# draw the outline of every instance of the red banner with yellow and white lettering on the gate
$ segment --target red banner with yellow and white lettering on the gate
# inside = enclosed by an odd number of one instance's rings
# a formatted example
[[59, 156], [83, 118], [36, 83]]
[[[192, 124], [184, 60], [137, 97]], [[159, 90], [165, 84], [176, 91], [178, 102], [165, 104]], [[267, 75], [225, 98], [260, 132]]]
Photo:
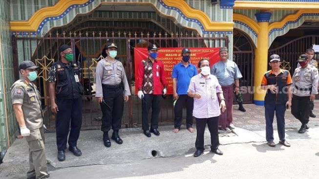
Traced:
[[[160, 48], [158, 50], [158, 57], [157, 60], [163, 62], [165, 75], [167, 80], [167, 93], [173, 94], [173, 82], [171, 78], [171, 73], [173, 71], [173, 67], [181, 62], [181, 51], [183, 47], [179, 48]], [[219, 47], [217, 48], [189, 48], [191, 50], [191, 64], [197, 67], [198, 62], [203, 59], [209, 59], [211, 67], [214, 63], [220, 60], [219, 57]], [[138, 84], [138, 77], [137, 71], [138, 66], [140, 65], [142, 60], [148, 58], [148, 51], [147, 48], [134, 48], [134, 65], [135, 65], [135, 94], [138, 92], [137, 84]], [[143, 79], [142, 79], [143, 80]]]

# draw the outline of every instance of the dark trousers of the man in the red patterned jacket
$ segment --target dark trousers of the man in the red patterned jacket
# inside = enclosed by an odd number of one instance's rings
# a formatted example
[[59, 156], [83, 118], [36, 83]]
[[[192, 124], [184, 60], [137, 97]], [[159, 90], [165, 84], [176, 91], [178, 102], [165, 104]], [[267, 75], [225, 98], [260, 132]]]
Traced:
[[150, 129], [158, 128], [158, 115], [161, 110], [160, 94], [144, 94], [142, 100], [142, 129], [149, 130], [149, 109], [152, 107]]

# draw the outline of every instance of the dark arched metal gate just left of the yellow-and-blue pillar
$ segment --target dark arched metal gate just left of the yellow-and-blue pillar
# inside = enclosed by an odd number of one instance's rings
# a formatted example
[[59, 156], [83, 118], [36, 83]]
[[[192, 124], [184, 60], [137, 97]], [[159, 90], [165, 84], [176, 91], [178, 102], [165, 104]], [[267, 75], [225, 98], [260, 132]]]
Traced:
[[[234, 30], [233, 61], [237, 64], [243, 77], [240, 79], [243, 103], [253, 102], [253, 68], [254, 47], [249, 38], [239, 30]], [[247, 92], [246, 92], [247, 91]], [[235, 101], [235, 98], [234, 98]], [[236, 102], [235, 102], [236, 103]]]

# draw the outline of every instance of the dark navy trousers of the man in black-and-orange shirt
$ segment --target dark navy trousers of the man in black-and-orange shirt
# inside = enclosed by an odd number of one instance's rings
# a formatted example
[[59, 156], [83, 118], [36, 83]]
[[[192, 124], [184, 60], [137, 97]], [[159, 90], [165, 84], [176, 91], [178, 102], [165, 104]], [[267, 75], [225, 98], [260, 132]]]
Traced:
[[265, 118], [266, 118], [266, 140], [268, 142], [274, 141], [274, 114], [276, 112], [277, 131], [279, 139], [285, 140], [285, 112], [286, 104], [265, 104]]

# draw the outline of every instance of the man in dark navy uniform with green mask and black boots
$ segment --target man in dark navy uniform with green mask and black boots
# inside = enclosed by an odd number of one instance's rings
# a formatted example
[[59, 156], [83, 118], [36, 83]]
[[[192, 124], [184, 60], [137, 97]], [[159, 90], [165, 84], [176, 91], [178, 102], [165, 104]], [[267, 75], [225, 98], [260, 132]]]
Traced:
[[49, 74], [49, 92], [51, 111], [55, 115], [55, 127], [58, 147], [58, 160], [64, 161], [67, 135], [69, 150], [75, 156], [82, 152], [77, 148], [77, 141], [82, 125], [82, 91], [81, 71], [73, 62], [73, 50], [68, 45], [59, 47], [61, 60], [53, 63]]

